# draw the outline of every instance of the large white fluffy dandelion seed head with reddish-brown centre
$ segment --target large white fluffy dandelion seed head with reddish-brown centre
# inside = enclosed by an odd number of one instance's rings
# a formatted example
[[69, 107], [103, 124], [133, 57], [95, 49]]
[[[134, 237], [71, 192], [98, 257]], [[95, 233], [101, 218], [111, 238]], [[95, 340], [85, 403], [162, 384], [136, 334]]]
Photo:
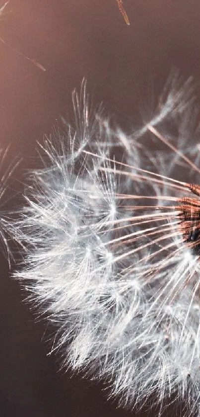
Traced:
[[[200, 416], [199, 125], [192, 80], [171, 79], [130, 135], [73, 92], [75, 128], [41, 146], [14, 238], [15, 276], [55, 326], [64, 367], [126, 407], [183, 401]], [[66, 124], [66, 126], [68, 126]], [[192, 132], [192, 133], [191, 133]]]

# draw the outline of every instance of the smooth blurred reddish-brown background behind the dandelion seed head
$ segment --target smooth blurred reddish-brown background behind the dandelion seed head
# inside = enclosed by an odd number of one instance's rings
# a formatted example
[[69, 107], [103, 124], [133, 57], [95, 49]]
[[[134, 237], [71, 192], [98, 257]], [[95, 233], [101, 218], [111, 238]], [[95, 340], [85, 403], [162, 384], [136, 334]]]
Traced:
[[[11, 144], [10, 159], [24, 156], [21, 169], [37, 164], [36, 141], [49, 134], [55, 119], [72, 114], [71, 90], [83, 77], [94, 102], [103, 100], [129, 126], [172, 67], [185, 77], [194, 75], [199, 94], [200, 1], [124, 0], [124, 5], [130, 27], [116, 0], [10, 0], [12, 11], [0, 21], [7, 42], [0, 42], [0, 145]], [[34, 323], [23, 297], [2, 258], [0, 416], [134, 416], [116, 411], [100, 385], [58, 372], [41, 341], [45, 328]]]

